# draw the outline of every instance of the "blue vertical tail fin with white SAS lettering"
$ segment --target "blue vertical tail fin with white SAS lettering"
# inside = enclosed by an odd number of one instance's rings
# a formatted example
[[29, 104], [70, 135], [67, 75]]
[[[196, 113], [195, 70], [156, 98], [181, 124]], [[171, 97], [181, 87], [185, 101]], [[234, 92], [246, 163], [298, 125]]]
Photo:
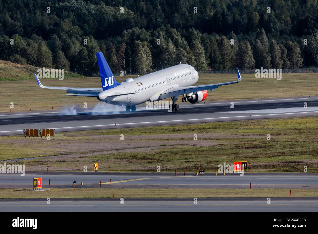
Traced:
[[101, 52], [96, 53], [96, 57], [97, 57], [98, 67], [100, 69], [100, 80], [101, 80], [103, 90], [111, 89], [120, 85], [120, 83], [118, 83], [115, 80], [115, 77], [107, 64], [103, 53]]

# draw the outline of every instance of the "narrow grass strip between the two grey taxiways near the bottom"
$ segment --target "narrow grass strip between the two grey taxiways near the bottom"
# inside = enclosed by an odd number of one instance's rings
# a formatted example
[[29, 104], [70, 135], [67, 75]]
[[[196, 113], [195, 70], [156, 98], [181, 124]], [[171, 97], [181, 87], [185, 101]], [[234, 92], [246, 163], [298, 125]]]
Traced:
[[[182, 188], [0, 188], [0, 198], [169, 198], [169, 197], [289, 197], [289, 189], [182, 189]], [[47, 189], [47, 188], [43, 188]], [[318, 189], [292, 189], [292, 197], [317, 197]]]

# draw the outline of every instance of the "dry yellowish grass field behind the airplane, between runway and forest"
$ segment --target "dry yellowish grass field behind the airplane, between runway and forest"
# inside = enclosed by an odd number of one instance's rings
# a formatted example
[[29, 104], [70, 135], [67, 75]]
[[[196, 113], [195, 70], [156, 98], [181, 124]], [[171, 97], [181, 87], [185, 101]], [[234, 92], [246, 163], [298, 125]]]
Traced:
[[[14, 103], [14, 109], [11, 112], [30, 111], [30, 108], [31, 110], [52, 110], [52, 107], [57, 110], [73, 105], [82, 106], [84, 102], [90, 108], [99, 102], [94, 97], [64, 96], [65, 90], [41, 89], [32, 75], [25, 76], [27, 80], [20, 78], [19, 81], [1, 81], [9, 78], [4, 79], [0, 73], [0, 112], [9, 112], [11, 102]], [[208, 93], [206, 101], [318, 95], [317, 74], [282, 74], [281, 81], [275, 78], [255, 78], [255, 74], [241, 74], [241, 76], [242, 82], [215, 89], [212, 93]], [[116, 80], [121, 82], [126, 78], [135, 77], [119, 76]], [[236, 80], [236, 74], [199, 74], [197, 85]], [[41, 82], [45, 86], [101, 87], [99, 77], [73, 79], [65, 77], [63, 81], [55, 78], [42, 79]], [[181, 99], [178, 102], [180, 103]]]

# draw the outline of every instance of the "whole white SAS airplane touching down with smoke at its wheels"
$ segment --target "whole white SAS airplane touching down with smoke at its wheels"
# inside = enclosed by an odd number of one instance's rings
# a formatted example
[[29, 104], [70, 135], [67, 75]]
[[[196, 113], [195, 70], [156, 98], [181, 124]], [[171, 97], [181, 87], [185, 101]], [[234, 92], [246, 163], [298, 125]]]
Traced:
[[113, 105], [126, 106], [127, 112], [135, 112], [136, 105], [147, 101], [159, 101], [165, 98], [172, 99], [172, 110], [178, 111], [176, 104], [178, 96], [183, 95], [182, 101], [199, 103], [207, 97], [207, 90], [212, 92], [219, 86], [235, 84], [242, 80], [239, 69], [236, 67], [238, 80], [233, 82], [196, 85], [199, 79], [198, 72], [188, 64], [178, 64], [153, 73], [139, 76], [135, 79], [127, 78], [118, 83], [109, 68], [102, 52], [96, 53], [102, 88], [69, 88], [47, 87], [41, 84], [34, 73], [38, 85], [44, 89], [63, 89], [67, 96], [96, 97], [99, 101]]

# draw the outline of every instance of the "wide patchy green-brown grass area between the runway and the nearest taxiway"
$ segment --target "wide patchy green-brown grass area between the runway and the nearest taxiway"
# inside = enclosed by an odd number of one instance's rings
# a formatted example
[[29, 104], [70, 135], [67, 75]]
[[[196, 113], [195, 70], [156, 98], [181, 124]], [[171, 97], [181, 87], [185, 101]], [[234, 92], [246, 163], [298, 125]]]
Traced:
[[[265, 126], [264, 126], [265, 125]], [[27, 171], [206, 172], [247, 160], [251, 172], [318, 172], [318, 117], [185, 124], [57, 133], [57, 138], [0, 138], [0, 161]], [[124, 140], [120, 135], [124, 134]], [[193, 135], [197, 134], [197, 140]], [[267, 140], [267, 134], [271, 140]], [[48, 158], [36, 158], [49, 156]], [[25, 160], [35, 157], [36, 159]]]

